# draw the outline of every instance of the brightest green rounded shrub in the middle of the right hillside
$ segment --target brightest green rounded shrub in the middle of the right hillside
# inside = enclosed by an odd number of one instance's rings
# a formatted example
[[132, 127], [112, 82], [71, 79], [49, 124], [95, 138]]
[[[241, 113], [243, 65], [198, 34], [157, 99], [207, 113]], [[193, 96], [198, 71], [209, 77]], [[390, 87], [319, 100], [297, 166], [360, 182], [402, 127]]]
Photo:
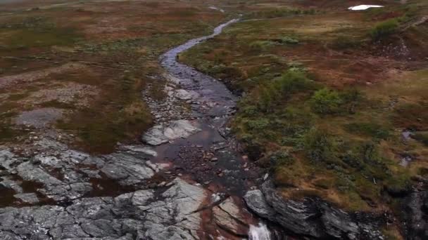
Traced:
[[316, 91], [310, 99], [310, 107], [318, 114], [336, 114], [340, 112], [342, 103], [339, 93], [328, 88]]

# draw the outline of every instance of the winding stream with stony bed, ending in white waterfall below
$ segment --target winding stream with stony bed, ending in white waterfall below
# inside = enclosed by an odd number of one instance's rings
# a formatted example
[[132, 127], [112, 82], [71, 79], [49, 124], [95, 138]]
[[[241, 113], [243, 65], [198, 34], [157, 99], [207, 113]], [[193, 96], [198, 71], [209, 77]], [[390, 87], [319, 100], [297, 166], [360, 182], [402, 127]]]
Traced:
[[[201, 131], [189, 138], [156, 147], [158, 156], [152, 161], [170, 159], [175, 171], [191, 180], [203, 182], [206, 189], [215, 189], [217, 193], [213, 194], [213, 197], [218, 199], [224, 199], [225, 196], [241, 199], [251, 186], [256, 185], [262, 173], [255, 166], [250, 169], [251, 163], [247, 161], [246, 156], [239, 154], [234, 138], [225, 127], [235, 112], [237, 96], [217, 79], [177, 62], [177, 56], [196, 44], [217, 36], [222, 29], [237, 21], [239, 20], [229, 20], [215, 27], [213, 34], [191, 39], [160, 57], [161, 65], [175, 78], [176, 84], [191, 93], [191, 119], [195, 119], [194, 124], [199, 126]], [[213, 154], [211, 159], [215, 159], [215, 162], [209, 161], [207, 164], [201, 156], [195, 155], [198, 151], [210, 152]], [[242, 209], [246, 208], [242, 200], [238, 205]], [[250, 223], [248, 238], [269, 240], [270, 232], [267, 227], [259, 220], [251, 218], [247, 220]]]

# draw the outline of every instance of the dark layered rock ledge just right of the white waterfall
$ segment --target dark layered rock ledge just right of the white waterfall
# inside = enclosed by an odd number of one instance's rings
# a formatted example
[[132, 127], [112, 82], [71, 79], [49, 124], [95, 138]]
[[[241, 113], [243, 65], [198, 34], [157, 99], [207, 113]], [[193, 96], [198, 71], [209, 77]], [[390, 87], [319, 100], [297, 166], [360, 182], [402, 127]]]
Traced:
[[270, 181], [263, 183], [261, 190], [247, 192], [244, 200], [261, 218], [295, 234], [319, 239], [382, 239], [378, 222], [360, 222], [321, 199], [284, 199]]

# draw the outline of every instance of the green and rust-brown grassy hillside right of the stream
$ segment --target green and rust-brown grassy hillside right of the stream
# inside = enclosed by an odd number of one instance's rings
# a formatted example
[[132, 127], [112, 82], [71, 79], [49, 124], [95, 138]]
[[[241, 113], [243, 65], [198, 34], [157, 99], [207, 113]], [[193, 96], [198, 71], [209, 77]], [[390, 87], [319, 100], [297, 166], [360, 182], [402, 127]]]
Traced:
[[428, 178], [427, 4], [328, 2], [242, 4], [180, 59], [243, 94], [232, 129], [284, 196], [382, 211]]

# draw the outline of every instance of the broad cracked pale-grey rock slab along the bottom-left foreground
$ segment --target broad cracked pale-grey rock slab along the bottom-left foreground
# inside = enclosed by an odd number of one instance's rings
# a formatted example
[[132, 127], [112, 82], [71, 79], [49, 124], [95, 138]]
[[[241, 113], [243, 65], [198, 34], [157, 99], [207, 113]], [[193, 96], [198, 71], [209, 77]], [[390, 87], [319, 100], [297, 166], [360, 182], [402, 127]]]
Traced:
[[166, 190], [0, 208], [0, 239], [197, 239], [206, 192], [177, 178]]

